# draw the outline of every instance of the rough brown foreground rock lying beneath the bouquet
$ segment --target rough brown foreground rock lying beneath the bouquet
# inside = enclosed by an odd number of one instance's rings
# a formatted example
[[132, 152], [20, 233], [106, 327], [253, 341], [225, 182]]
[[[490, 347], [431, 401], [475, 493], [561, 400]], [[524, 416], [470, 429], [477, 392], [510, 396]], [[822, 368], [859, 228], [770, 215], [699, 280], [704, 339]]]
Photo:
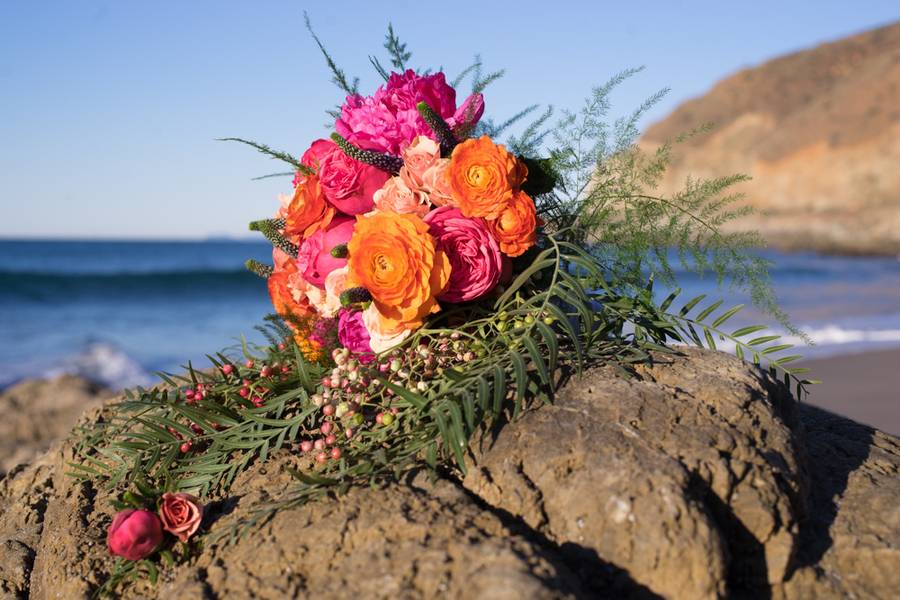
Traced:
[[[96, 419], [99, 409], [86, 419]], [[424, 474], [278, 513], [129, 598], [883, 598], [900, 589], [900, 439], [798, 405], [725, 354], [598, 369]], [[57, 443], [0, 480], [0, 597], [87, 598], [108, 494]], [[256, 465], [204, 526], [290, 485]]]

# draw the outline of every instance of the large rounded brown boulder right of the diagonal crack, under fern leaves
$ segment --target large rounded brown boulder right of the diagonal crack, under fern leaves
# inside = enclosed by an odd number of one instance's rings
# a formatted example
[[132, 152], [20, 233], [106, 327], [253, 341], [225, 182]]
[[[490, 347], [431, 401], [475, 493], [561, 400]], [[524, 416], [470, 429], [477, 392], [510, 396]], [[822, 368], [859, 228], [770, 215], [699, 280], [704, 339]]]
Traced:
[[781, 581], [804, 514], [795, 403], [732, 357], [688, 356], [576, 379], [476, 447], [464, 485], [665, 597]]

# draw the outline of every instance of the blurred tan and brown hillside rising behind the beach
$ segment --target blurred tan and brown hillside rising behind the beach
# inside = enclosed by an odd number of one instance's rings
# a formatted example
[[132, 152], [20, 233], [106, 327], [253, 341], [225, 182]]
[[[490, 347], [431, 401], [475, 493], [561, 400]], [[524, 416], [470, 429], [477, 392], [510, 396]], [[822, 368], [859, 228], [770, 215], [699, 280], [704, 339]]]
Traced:
[[774, 246], [900, 252], [900, 23], [740, 71], [642, 143], [705, 123], [715, 129], [679, 147], [665, 191], [747, 173], [761, 213], [749, 225]]

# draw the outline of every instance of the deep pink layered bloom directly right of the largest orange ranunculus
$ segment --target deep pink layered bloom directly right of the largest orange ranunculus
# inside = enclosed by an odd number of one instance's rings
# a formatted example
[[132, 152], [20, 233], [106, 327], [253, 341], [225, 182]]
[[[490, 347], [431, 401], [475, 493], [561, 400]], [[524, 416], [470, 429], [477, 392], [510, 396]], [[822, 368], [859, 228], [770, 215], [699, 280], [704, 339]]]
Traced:
[[439, 299], [467, 302], [494, 289], [503, 272], [503, 260], [494, 236], [480, 219], [442, 206], [428, 213], [425, 222], [450, 260], [450, 282]]

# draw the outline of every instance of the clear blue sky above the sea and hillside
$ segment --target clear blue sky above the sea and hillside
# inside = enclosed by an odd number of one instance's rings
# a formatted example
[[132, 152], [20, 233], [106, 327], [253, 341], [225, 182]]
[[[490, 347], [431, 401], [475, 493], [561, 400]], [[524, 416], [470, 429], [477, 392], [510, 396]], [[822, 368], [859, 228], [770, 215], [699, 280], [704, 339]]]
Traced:
[[367, 92], [388, 21], [416, 66], [454, 75], [481, 53], [507, 69], [486, 96], [495, 118], [577, 106], [639, 65], [614, 99], [625, 112], [669, 86], [660, 118], [741, 67], [900, 19], [897, 0], [0, 0], [0, 237], [246, 235], [290, 182], [250, 181], [282, 169], [214, 139], [300, 153], [341, 100], [304, 9]]

